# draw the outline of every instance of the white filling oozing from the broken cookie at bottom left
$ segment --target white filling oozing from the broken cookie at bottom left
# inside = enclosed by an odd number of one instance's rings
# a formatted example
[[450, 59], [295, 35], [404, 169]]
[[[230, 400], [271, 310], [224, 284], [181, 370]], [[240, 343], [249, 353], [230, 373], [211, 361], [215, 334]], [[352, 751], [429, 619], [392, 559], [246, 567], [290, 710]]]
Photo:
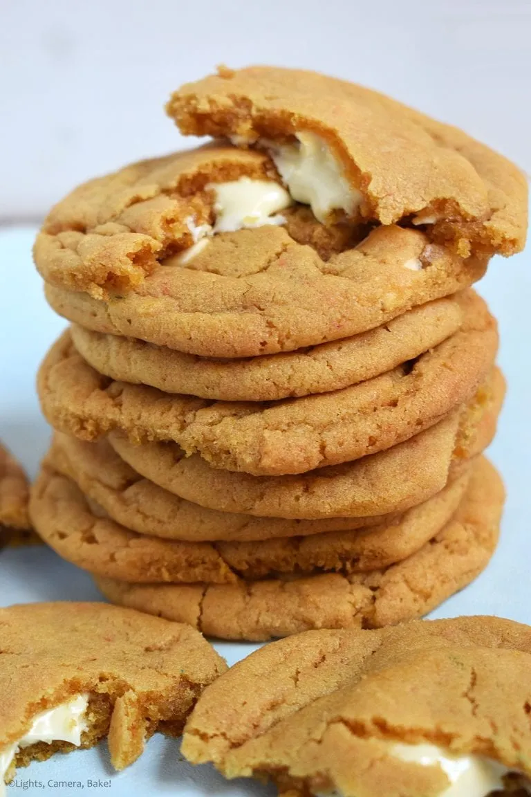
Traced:
[[88, 728], [85, 720], [87, 706], [88, 695], [78, 695], [71, 701], [56, 706], [55, 709], [37, 714], [29, 731], [18, 742], [0, 751], [0, 797], [6, 795], [4, 778], [19, 749], [37, 742], [52, 744], [55, 741], [70, 742], [77, 747], [80, 746], [81, 734]]

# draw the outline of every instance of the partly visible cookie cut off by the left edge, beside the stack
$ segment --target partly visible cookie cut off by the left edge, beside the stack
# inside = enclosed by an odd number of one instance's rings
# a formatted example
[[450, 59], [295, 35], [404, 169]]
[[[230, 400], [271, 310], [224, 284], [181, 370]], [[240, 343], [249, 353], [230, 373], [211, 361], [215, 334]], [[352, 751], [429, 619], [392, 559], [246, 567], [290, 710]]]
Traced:
[[29, 483], [24, 470], [0, 445], [0, 548], [40, 541], [31, 530], [28, 502]]

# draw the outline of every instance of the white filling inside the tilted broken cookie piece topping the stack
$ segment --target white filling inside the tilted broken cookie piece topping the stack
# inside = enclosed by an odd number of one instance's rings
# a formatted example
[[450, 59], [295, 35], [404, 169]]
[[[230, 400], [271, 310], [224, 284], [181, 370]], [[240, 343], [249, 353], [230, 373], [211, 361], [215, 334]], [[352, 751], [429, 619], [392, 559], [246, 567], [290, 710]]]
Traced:
[[310, 205], [315, 218], [326, 222], [334, 210], [352, 216], [361, 204], [361, 193], [349, 185], [345, 171], [320, 135], [296, 133], [299, 143], [262, 142], [269, 151], [292, 198]]

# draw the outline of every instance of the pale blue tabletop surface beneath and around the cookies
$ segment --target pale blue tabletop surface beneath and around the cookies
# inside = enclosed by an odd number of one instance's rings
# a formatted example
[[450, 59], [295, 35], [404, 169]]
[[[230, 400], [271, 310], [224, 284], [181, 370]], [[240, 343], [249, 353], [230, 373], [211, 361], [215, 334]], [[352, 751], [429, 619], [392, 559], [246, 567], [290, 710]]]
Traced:
[[[45, 453], [49, 429], [39, 412], [34, 390], [38, 363], [64, 327], [42, 296], [41, 281], [33, 269], [30, 247], [34, 230], [0, 231], [0, 439], [4, 440], [33, 476]], [[529, 308], [531, 258], [498, 258], [479, 286], [498, 316], [502, 332], [500, 363], [510, 389], [490, 456], [502, 470], [508, 500], [502, 540], [488, 570], [459, 595], [435, 611], [433, 617], [457, 614], [499, 614], [531, 623], [531, 424], [529, 424]], [[0, 604], [39, 600], [99, 600], [92, 581], [82, 571], [64, 563], [44, 548], [0, 552]], [[217, 643], [217, 650], [232, 664], [255, 646]], [[260, 685], [258, 685], [260, 688]], [[110, 779], [110, 787], [89, 790], [109, 797], [140, 795], [271, 795], [256, 783], [225, 783], [209, 767], [192, 768], [181, 760], [178, 744], [155, 737], [133, 767], [119, 775], [108, 764], [105, 748], [55, 756], [45, 764], [19, 770], [18, 783], [28, 779], [44, 784], [20, 793], [72, 797], [74, 787], [46, 787], [48, 779]], [[15, 787], [8, 794], [18, 793]]]

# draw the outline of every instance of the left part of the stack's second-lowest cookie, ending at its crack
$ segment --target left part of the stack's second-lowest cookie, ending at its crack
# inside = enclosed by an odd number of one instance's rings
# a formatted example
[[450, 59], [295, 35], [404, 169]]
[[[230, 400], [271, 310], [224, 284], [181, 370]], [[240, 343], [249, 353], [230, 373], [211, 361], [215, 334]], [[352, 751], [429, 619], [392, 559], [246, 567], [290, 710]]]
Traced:
[[33, 525], [59, 556], [84, 570], [131, 582], [232, 583], [236, 575], [213, 545], [158, 540], [131, 532], [90, 505], [67, 477], [44, 463], [29, 504]]

